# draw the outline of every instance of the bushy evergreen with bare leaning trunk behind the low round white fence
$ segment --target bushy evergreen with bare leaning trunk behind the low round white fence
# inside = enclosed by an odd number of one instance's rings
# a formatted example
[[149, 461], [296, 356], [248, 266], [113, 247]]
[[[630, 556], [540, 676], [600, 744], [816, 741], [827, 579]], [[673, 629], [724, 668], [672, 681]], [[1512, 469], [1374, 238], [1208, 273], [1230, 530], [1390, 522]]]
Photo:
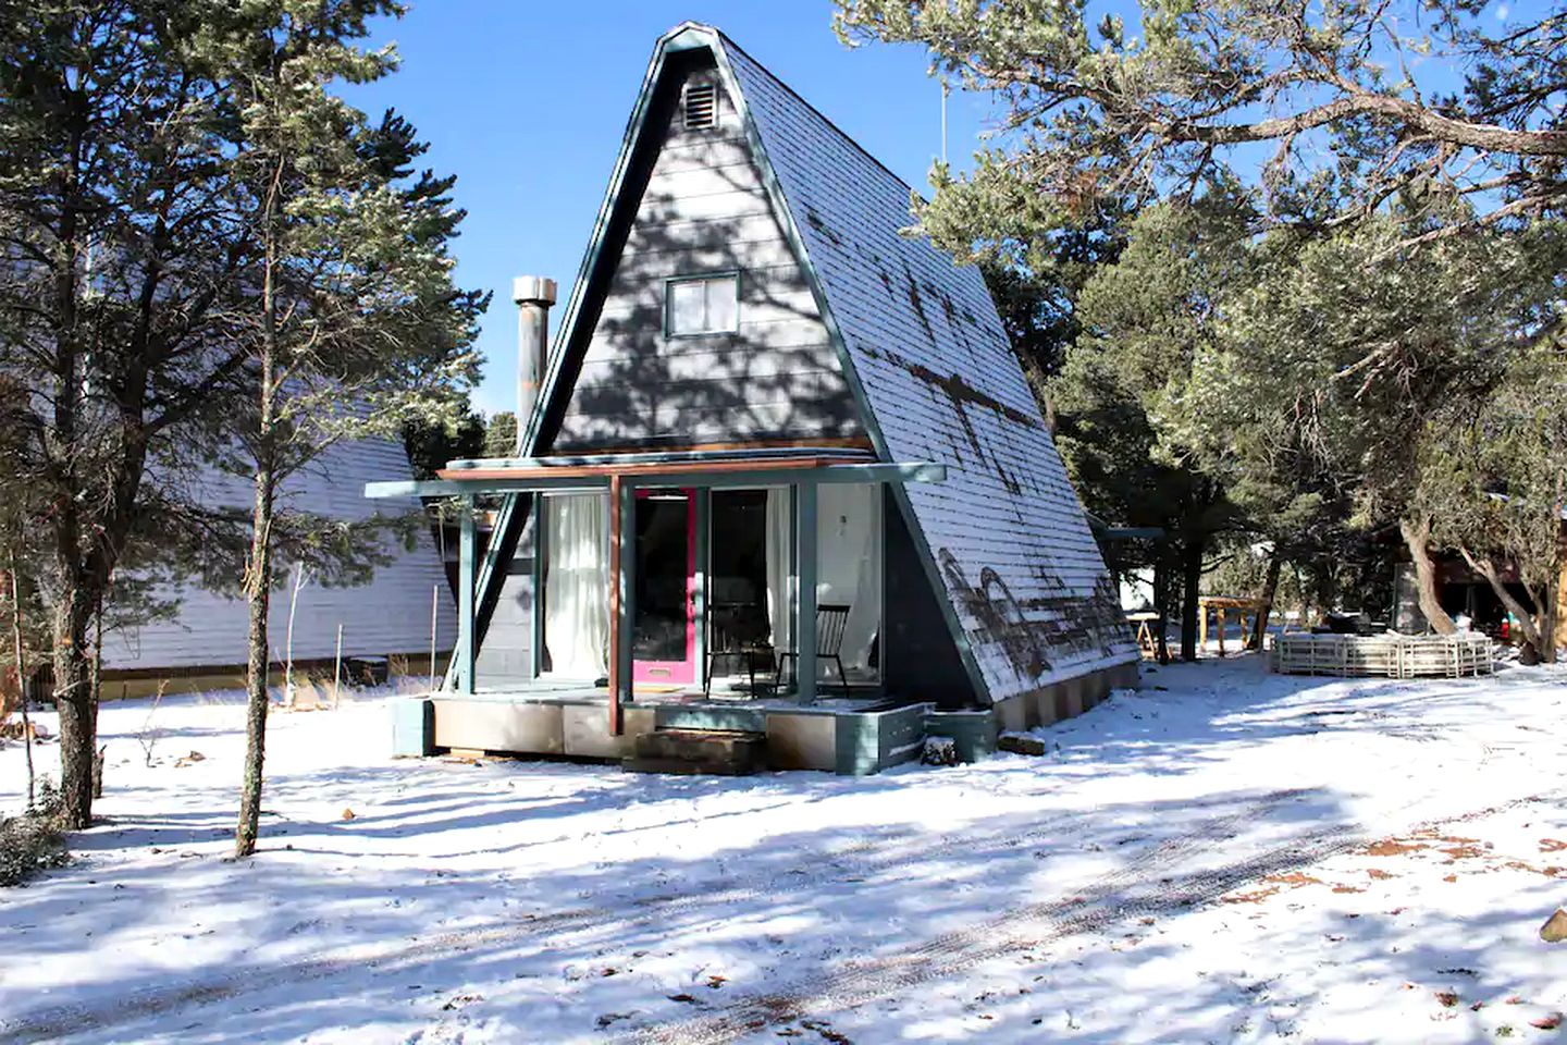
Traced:
[[1269, 233], [1180, 414], [1233, 453], [1250, 506], [1395, 526], [1421, 611], [1451, 631], [1432, 553], [1453, 547], [1457, 501], [1421, 492], [1431, 440], [1484, 410], [1518, 353], [1551, 337], [1562, 265], [1545, 226], [1420, 243], [1431, 227], [1393, 210], [1304, 241]]

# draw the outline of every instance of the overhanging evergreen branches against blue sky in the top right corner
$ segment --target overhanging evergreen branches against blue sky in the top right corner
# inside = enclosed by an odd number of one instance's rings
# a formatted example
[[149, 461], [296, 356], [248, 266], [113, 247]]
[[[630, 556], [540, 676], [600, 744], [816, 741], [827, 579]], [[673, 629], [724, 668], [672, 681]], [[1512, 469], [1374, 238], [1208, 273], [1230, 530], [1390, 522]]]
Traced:
[[837, 5], [846, 41], [920, 44], [932, 72], [993, 92], [990, 160], [1045, 197], [1191, 197], [1255, 165], [1283, 208], [1304, 191], [1368, 215], [1417, 186], [1442, 232], [1567, 199], [1561, 3], [1139, 0], [1136, 27], [1087, 0]]

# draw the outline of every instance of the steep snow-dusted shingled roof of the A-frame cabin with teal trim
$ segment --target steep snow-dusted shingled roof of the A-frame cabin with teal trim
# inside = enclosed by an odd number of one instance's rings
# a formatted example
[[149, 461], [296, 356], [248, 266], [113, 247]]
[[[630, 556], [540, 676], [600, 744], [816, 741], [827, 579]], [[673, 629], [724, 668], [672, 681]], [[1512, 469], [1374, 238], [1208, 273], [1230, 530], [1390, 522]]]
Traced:
[[[979, 271], [910, 224], [912, 190], [718, 30], [685, 24], [655, 49], [566, 323], [530, 421], [530, 451], [569, 389], [636, 201], [632, 158], [666, 60], [705, 49], [747, 127], [879, 456], [948, 465], [945, 484], [898, 489], [976, 691], [992, 702], [1136, 660], [1119, 598]], [[613, 249], [613, 248], [611, 248]]]

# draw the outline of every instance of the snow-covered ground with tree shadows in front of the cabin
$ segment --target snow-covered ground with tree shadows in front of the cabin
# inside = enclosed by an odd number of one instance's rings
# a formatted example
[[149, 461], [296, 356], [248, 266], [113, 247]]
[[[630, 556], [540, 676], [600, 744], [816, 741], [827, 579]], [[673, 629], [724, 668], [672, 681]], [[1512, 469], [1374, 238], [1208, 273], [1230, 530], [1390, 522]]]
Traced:
[[1564, 710], [1246, 656], [1044, 758], [730, 780], [395, 761], [362, 699], [273, 718], [233, 863], [238, 697], [166, 700], [150, 768], [114, 703], [105, 823], [0, 891], [0, 1040], [1559, 1040]]

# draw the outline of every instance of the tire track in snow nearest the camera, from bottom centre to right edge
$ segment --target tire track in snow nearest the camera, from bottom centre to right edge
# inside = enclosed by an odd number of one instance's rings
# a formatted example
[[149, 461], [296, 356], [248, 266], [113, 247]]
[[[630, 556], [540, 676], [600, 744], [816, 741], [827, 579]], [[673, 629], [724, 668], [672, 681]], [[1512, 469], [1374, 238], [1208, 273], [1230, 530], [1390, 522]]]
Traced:
[[[1287, 794], [1287, 793], [1285, 793]], [[1370, 844], [1373, 835], [1352, 826], [1335, 826], [1305, 833], [1221, 868], [1197, 870], [1182, 877], [1150, 874], [1169, 868], [1194, 848], [1233, 838], [1236, 829], [1265, 813], [1280, 799], [1261, 801], [1230, 816], [1208, 821], [1202, 829], [1152, 846], [1124, 870], [1098, 879], [1094, 888], [1064, 899], [1026, 904], [975, 926], [945, 932], [923, 943], [893, 951], [885, 957], [851, 960], [812, 973], [763, 995], [738, 998], [721, 1009], [661, 1025], [633, 1029], [614, 1039], [625, 1045], [724, 1045], [798, 1018], [823, 1018], [961, 974], [975, 965], [1056, 943], [1062, 938], [1097, 932], [1130, 917], [1172, 913], [1211, 902], [1219, 896], [1266, 874], [1318, 863], [1330, 855]], [[1528, 802], [1558, 801], [1561, 796], [1526, 796], [1457, 816], [1421, 821], [1396, 835], [1479, 819]], [[1381, 833], [1377, 835], [1381, 837]]]

